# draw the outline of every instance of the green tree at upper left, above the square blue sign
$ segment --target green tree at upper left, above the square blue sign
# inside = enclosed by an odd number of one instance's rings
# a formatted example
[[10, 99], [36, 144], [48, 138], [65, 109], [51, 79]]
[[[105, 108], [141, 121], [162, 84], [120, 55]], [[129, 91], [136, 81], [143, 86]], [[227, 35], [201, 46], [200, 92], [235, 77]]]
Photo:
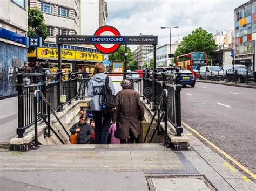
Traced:
[[[49, 36], [47, 27], [44, 24], [43, 13], [37, 9], [28, 9], [28, 37], [42, 37], [43, 42]], [[29, 48], [28, 52], [32, 52], [35, 48]]]

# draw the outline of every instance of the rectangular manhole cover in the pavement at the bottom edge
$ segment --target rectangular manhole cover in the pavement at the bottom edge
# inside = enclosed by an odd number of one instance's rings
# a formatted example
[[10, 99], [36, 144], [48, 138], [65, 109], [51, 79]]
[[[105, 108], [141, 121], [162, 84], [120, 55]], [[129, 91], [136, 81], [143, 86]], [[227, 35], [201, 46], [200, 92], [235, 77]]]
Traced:
[[157, 190], [217, 190], [204, 176], [147, 176], [149, 188]]

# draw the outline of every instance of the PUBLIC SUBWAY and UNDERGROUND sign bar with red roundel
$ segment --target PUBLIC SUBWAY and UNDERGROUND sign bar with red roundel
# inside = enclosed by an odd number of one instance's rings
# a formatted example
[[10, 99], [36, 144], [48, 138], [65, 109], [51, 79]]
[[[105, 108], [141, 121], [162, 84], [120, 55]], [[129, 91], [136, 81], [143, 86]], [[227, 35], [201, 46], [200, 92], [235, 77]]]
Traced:
[[57, 35], [57, 44], [94, 44], [99, 52], [110, 54], [117, 51], [122, 44], [157, 45], [157, 36], [121, 36], [113, 26], [102, 26], [93, 36]]

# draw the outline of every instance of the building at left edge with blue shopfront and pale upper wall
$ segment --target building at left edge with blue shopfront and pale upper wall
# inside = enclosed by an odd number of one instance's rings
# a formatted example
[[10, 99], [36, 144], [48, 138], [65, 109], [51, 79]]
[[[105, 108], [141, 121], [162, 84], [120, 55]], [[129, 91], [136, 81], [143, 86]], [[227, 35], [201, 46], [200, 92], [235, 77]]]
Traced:
[[0, 99], [17, 94], [16, 71], [26, 60], [28, 1], [0, 3]]

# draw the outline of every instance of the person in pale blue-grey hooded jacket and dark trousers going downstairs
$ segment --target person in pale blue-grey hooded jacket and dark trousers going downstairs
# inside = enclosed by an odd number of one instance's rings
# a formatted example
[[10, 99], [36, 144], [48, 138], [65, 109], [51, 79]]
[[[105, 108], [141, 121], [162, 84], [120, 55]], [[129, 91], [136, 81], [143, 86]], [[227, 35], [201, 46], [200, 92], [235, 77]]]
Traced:
[[91, 98], [91, 109], [93, 119], [95, 120], [95, 143], [96, 144], [106, 144], [107, 136], [109, 134], [108, 130], [110, 128], [110, 122], [112, 119], [112, 111], [105, 112], [108, 105], [103, 103], [103, 93], [102, 90], [107, 87], [110, 88], [111, 94], [114, 95], [115, 89], [113, 82], [110, 77], [107, 77], [105, 72], [105, 66], [103, 63], [96, 63], [95, 69], [91, 76], [88, 84], [88, 95]]

